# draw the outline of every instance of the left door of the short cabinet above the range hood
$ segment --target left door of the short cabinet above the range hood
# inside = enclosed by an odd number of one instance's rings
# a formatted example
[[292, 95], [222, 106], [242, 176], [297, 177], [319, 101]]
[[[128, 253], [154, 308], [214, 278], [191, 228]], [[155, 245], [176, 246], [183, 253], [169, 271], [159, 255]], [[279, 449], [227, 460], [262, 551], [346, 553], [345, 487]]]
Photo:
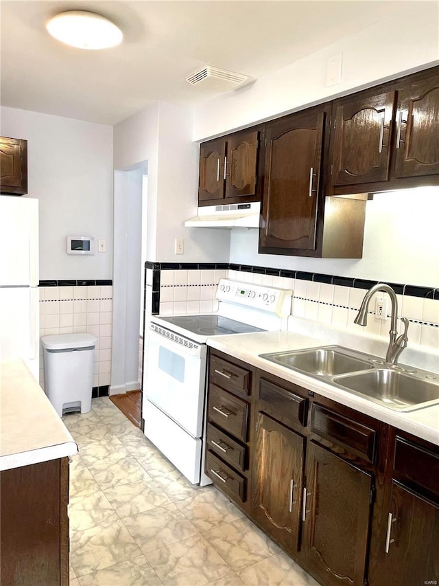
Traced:
[[225, 156], [226, 142], [222, 139], [209, 141], [200, 146], [200, 201], [224, 198]]

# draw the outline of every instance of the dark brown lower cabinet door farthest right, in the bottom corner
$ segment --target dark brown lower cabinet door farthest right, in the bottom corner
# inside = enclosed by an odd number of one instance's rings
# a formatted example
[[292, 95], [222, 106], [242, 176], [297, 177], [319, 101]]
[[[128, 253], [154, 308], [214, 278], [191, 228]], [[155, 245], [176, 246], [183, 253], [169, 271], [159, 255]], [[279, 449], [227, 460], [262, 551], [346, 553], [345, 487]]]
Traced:
[[392, 482], [382, 565], [371, 586], [439, 584], [439, 507]]

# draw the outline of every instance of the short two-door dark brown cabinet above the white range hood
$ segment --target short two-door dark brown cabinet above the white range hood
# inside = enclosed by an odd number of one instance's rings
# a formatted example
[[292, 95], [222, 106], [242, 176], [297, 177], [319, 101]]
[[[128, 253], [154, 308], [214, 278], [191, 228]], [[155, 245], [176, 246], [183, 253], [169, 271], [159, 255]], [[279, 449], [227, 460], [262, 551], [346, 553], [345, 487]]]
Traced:
[[257, 201], [259, 131], [246, 131], [200, 145], [198, 203]]

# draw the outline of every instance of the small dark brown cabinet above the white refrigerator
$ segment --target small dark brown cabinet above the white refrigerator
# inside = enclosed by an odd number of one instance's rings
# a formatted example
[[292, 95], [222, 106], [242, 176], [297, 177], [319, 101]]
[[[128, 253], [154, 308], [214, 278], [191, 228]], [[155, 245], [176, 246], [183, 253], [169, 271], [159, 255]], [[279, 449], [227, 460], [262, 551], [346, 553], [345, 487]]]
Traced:
[[0, 137], [0, 193], [27, 193], [27, 140]]

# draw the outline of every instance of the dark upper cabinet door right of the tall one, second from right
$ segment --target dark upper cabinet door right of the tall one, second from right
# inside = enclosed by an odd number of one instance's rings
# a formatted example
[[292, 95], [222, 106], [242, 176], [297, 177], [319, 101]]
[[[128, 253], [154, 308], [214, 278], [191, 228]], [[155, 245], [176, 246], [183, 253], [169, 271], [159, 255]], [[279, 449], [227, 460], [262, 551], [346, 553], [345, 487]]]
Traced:
[[388, 91], [336, 102], [332, 185], [387, 181], [395, 95]]

